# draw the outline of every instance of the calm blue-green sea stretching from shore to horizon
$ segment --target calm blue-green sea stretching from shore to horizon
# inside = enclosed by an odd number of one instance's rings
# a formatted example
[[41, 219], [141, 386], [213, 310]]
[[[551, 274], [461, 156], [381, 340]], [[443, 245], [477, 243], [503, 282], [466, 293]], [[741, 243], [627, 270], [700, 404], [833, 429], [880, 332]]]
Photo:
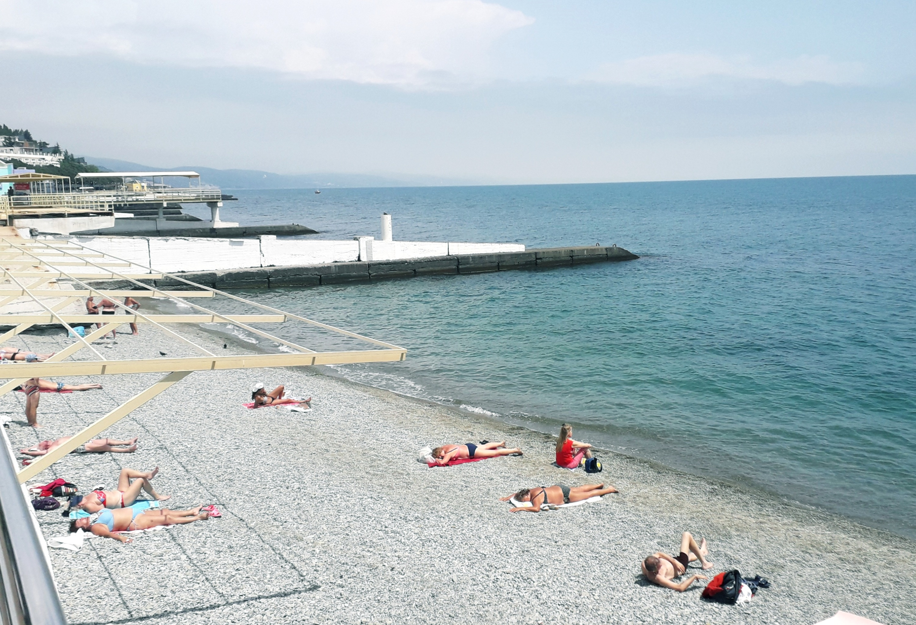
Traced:
[[403, 241], [637, 253], [249, 295], [409, 350], [355, 381], [916, 539], [916, 176], [233, 193], [224, 220], [311, 238], [384, 211]]

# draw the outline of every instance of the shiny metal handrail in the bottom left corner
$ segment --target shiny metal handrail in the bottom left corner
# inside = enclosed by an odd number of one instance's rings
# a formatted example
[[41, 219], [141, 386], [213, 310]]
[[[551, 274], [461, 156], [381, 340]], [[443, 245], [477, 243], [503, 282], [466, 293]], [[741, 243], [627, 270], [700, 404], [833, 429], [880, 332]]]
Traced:
[[66, 625], [6, 433], [0, 439], [0, 622]]

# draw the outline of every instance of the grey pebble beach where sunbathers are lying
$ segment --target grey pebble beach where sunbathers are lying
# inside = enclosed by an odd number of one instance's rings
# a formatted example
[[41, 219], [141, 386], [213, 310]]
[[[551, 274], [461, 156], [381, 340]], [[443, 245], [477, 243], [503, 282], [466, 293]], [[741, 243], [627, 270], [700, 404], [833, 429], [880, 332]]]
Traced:
[[[202, 329], [191, 334], [222, 347]], [[69, 340], [58, 329], [9, 344], [50, 351]], [[113, 358], [192, 353], [146, 327], [96, 345]], [[43, 394], [38, 430], [26, 426], [23, 394], [7, 393], [6, 435], [17, 449], [73, 434], [158, 377], [61, 379], [104, 389]], [[311, 412], [246, 409], [258, 381], [311, 396]], [[70, 455], [30, 483], [114, 489], [120, 469], [158, 466], [154, 483], [170, 508], [212, 503], [223, 516], [135, 534], [132, 544], [51, 549], [71, 623], [788, 625], [837, 610], [916, 622], [911, 540], [610, 452], [596, 454], [596, 475], [557, 469], [552, 436], [311, 368], [195, 372], [103, 436], [138, 436], [139, 448]], [[417, 461], [421, 447], [484, 439], [525, 454], [435, 469]], [[685, 443], [672, 453], [691, 451]], [[537, 514], [498, 501], [524, 487], [596, 482], [620, 492]], [[46, 538], [67, 533], [60, 511], [37, 515]], [[737, 568], [772, 586], [725, 606], [701, 600], [703, 584], [683, 593], [649, 585], [641, 559], [677, 552], [684, 530], [708, 540], [712, 574]]]

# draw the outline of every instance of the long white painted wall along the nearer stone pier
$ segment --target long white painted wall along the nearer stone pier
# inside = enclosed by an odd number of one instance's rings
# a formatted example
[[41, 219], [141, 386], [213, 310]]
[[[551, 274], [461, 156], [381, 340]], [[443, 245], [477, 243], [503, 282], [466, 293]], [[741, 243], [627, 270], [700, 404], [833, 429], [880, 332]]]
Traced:
[[467, 253], [524, 252], [518, 243], [453, 243], [278, 239], [207, 239], [198, 237], [73, 237], [86, 247], [165, 272], [219, 271], [290, 264], [390, 261]]

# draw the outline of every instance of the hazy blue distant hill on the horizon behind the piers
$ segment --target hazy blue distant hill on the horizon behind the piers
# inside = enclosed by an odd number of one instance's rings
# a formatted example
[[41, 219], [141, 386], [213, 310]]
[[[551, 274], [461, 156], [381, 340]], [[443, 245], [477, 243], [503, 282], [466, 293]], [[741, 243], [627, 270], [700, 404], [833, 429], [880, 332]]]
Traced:
[[433, 176], [387, 177], [369, 174], [274, 174], [256, 169], [213, 169], [180, 165], [176, 167], [151, 167], [131, 163], [130, 161], [102, 156], [85, 156], [87, 163], [92, 163], [109, 171], [196, 171], [201, 175], [204, 184], [211, 184], [220, 189], [324, 189], [327, 187], [450, 187], [474, 183], [470, 180], [454, 178], [436, 178]]

